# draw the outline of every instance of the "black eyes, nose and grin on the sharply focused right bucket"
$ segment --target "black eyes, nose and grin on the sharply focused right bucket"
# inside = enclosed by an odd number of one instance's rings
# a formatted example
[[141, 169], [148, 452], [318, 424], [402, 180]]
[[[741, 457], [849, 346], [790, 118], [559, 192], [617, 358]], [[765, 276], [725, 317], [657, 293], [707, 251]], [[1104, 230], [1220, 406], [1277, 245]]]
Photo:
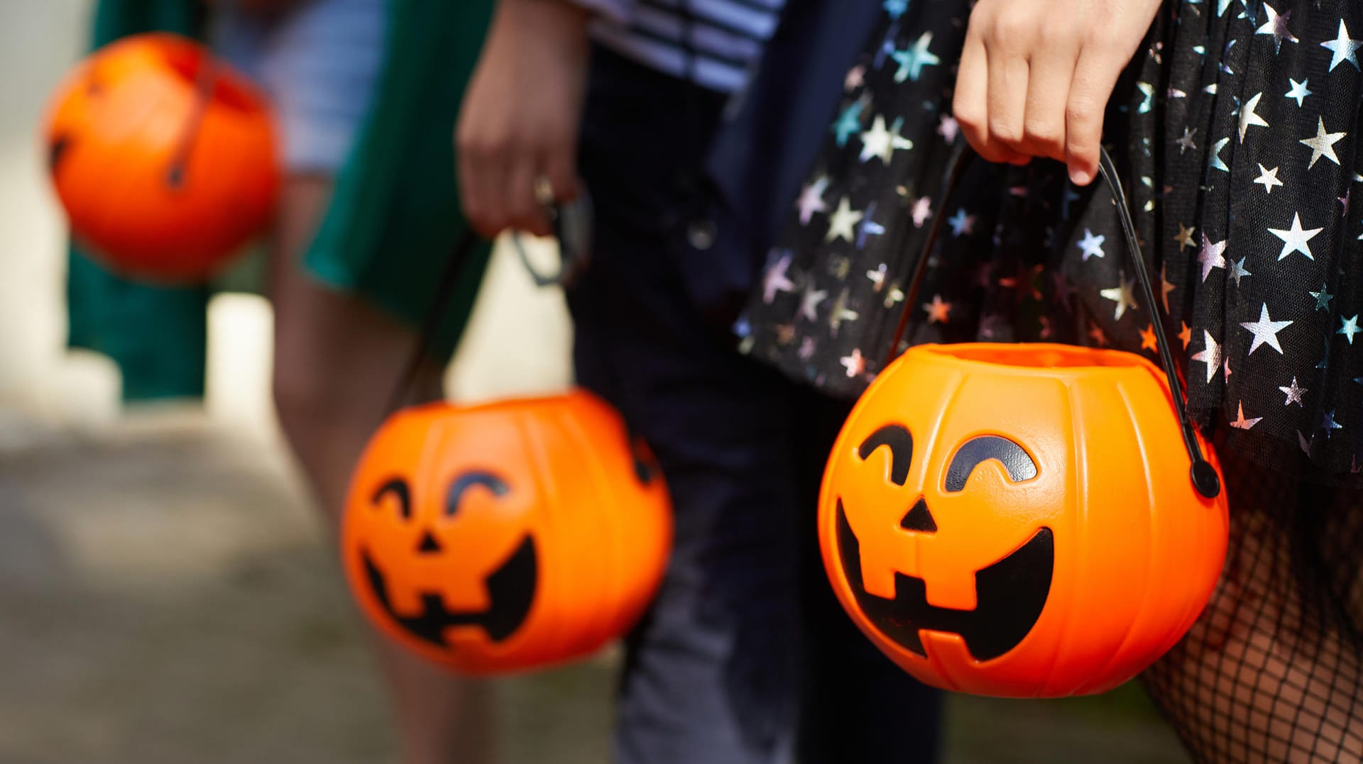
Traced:
[[[913, 434], [902, 425], [886, 425], [861, 443], [857, 456], [866, 462], [880, 449], [887, 452], [889, 459], [886, 478], [895, 486], [904, 486], [913, 459]], [[942, 490], [964, 492], [975, 468], [988, 460], [996, 462], [1011, 482], [1037, 477], [1036, 462], [1017, 443], [999, 436], [977, 436], [955, 451], [942, 478]], [[900, 571], [893, 571], [893, 596], [867, 591], [861, 571], [874, 561], [863, 560], [861, 545], [841, 498], [837, 522], [842, 567], [857, 605], [876, 628], [910, 652], [927, 656], [919, 631], [928, 629], [960, 635], [975, 659], [988, 660], [1017, 647], [1041, 616], [1055, 565], [1055, 541], [1050, 527], [1039, 527], [1017, 549], [976, 571], [976, 605], [966, 610], [931, 605], [923, 579]], [[913, 535], [938, 532], [924, 496], [916, 497], [900, 527]]]

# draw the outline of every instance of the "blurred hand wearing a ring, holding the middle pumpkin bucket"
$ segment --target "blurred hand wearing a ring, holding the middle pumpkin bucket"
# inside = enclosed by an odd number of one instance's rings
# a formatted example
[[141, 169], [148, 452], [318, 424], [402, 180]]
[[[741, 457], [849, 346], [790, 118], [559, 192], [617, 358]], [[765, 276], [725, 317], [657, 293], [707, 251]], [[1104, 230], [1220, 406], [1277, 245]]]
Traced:
[[[457, 1], [457, 0], [446, 0]], [[455, 128], [459, 196], [474, 230], [548, 236], [536, 184], [577, 196], [586, 12], [566, 0], [500, 0]]]

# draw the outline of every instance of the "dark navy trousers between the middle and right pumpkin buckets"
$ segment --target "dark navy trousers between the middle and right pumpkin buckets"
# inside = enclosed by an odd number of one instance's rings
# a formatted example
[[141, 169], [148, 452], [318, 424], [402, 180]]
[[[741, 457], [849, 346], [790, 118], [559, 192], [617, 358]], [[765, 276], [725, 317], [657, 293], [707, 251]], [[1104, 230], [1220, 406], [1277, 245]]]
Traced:
[[[733, 350], [684, 287], [722, 99], [611, 53], [593, 60], [581, 172], [592, 264], [568, 291], [578, 381], [662, 466], [676, 542], [627, 640], [619, 764], [928, 763], [940, 697], [856, 631], [814, 515], [846, 406]], [[741, 256], [741, 255], [736, 255]]]

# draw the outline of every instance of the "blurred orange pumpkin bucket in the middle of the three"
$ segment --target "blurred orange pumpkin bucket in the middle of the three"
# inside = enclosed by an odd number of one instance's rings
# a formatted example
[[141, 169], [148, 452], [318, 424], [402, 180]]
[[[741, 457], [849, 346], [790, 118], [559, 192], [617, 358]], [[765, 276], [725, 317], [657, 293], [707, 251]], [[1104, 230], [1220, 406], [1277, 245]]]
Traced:
[[671, 545], [652, 456], [574, 391], [394, 414], [354, 473], [341, 554], [372, 624], [447, 669], [493, 674], [623, 635]]

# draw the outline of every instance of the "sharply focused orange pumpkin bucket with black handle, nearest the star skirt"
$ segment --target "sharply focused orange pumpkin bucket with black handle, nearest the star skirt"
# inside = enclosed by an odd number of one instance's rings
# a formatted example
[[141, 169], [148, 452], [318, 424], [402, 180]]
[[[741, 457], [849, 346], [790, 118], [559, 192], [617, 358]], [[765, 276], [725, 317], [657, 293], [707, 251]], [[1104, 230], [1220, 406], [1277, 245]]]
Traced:
[[[1101, 169], [1156, 305], [1105, 154]], [[940, 217], [910, 290], [939, 230]], [[1163, 369], [1073, 346], [919, 346], [856, 403], [823, 475], [819, 543], [842, 606], [904, 670], [977, 695], [1097, 693], [1197, 620], [1227, 498], [1154, 328]]]

